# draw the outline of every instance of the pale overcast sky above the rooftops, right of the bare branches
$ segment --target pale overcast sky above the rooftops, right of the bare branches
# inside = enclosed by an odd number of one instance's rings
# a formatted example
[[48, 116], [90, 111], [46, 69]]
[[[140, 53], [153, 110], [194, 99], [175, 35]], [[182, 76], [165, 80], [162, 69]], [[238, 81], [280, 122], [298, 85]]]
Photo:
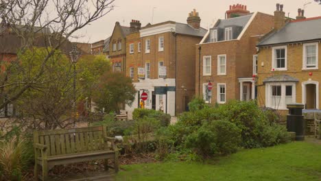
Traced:
[[208, 29], [217, 19], [224, 19], [229, 5], [237, 3], [247, 5], [250, 12], [267, 14], [274, 14], [276, 3], [283, 3], [286, 16], [289, 13], [290, 17], [295, 18], [298, 8], [305, 8], [307, 18], [321, 16], [321, 5], [314, 0], [115, 0], [115, 10], [78, 32], [82, 36], [78, 41], [94, 43], [108, 38], [116, 21], [124, 26], [129, 26], [132, 19], [141, 21], [142, 26], [169, 20], [186, 23], [188, 13], [193, 8], [200, 14], [201, 26]]

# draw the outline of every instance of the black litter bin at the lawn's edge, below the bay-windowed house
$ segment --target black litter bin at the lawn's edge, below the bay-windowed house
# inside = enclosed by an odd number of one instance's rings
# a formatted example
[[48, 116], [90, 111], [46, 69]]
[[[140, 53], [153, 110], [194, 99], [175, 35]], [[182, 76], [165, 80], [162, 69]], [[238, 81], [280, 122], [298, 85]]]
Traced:
[[287, 131], [296, 132], [296, 141], [305, 140], [305, 119], [302, 115], [304, 104], [287, 104]]

